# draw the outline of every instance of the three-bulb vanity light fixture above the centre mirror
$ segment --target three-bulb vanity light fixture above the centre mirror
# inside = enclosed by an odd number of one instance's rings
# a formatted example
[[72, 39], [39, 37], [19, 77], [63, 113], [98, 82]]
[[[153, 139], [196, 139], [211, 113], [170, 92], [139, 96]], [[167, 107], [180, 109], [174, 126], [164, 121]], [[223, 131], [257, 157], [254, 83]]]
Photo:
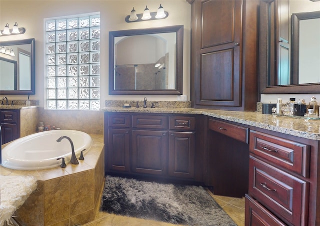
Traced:
[[150, 12], [147, 5], [145, 5], [145, 9], [143, 13], [139, 13], [139, 14], [136, 14], [134, 7], [132, 7], [130, 15], [127, 15], [124, 18], [124, 20], [130, 23], [130, 22], [138, 22], [138, 21], [145, 21], [145, 20], [164, 19], [168, 17], [168, 15], [169, 13], [167, 11], [164, 11], [164, 8], [161, 4], [156, 12]]

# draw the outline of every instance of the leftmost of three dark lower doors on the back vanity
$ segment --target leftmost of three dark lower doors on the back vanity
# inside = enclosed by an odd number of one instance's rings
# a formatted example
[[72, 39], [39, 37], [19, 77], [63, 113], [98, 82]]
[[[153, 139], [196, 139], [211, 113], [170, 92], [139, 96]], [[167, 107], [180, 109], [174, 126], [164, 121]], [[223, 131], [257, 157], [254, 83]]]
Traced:
[[130, 171], [130, 130], [108, 129], [107, 170]]

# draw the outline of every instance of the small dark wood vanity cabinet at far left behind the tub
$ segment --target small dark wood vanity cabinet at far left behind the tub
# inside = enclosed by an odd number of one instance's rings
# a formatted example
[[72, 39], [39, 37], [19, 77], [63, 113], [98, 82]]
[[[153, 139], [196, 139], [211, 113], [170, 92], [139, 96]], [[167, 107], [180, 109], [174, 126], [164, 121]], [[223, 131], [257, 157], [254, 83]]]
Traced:
[[2, 144], [20, 137], [20, 110], [1, 109], [0, 123]]

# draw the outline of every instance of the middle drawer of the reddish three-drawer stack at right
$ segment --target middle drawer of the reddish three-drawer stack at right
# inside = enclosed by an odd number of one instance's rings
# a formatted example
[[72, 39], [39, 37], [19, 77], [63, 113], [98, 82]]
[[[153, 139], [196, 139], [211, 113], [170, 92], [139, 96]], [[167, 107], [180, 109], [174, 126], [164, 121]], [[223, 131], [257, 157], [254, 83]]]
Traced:
[[308, 190], [309, 183], [250, 156], [249, 195], [283, 222], [306, 225]]

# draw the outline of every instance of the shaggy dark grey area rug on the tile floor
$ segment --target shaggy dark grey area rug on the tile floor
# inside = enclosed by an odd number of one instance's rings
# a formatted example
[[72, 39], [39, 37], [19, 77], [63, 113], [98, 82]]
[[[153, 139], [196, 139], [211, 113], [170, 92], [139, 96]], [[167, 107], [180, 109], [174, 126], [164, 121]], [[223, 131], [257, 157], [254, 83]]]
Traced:
[[100, 210], [188, 226], [236, 226], [201, 186], [105, 178]]

